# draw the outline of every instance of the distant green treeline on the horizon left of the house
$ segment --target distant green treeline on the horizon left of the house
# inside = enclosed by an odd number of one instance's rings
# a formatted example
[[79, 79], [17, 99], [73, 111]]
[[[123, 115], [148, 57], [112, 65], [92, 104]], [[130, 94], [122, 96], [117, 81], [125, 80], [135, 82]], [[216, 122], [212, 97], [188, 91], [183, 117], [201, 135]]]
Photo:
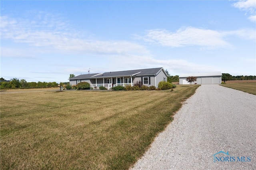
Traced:
[[[62, 83], [67, 84], [67, 83]], [[1, 89], [15, 89], [15, 88], [50, 88], [58, 87], [56, 82], [27, 82], [25, 79], [19, 80], [18, 78], [12, 78], [11, 80], [0, 79]]]

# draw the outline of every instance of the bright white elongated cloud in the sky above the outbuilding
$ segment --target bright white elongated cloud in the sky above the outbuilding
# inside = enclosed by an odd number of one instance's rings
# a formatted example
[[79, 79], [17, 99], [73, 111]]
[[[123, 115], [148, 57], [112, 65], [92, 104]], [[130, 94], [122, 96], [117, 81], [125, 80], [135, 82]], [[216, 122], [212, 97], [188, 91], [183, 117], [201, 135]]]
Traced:
[[144, 36], [137, 36], [149, 43], [156, 43], [167, 47], [183, 47], [197, 45], [207, 49], [232, 47], [225, 37], [234, 35], [244, 39], [255, 39], [255, 30], [240, 29], [235, 31], [214, 31], [195, 27], [183, 27], [176, 32], [166, 29], [146, 31]]

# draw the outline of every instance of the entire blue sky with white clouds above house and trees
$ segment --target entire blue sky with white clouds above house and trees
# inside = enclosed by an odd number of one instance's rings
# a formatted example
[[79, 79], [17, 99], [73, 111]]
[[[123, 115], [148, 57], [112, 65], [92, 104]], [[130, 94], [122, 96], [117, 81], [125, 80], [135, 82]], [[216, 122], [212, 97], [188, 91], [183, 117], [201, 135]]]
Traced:
[[1, 0], [6, 80], [164, 67], [256, 75], [256, 0]]

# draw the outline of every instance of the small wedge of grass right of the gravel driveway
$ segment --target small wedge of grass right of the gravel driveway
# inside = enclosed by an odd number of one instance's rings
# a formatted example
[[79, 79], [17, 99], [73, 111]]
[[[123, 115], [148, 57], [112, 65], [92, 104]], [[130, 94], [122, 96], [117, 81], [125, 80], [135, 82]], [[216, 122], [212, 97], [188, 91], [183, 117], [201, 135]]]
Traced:
[[221, 86], [256, 95], [256, 83], [228, 83], [221, 84]]

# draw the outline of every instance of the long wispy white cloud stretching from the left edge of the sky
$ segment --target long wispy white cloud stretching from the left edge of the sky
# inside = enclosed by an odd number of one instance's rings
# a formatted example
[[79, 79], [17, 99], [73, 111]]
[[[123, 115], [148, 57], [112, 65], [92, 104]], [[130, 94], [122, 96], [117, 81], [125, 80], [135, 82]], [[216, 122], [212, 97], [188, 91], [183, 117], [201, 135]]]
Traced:
[[1, 37], [12, 39], [16, 43], [27, 43], [34, 47], [47, 47], [48, 50], [55, 50], [58, 53], [149, 53], [144, 46], [128, 41], [100, 41], [86, 38], [81, 33], [64, 29], [66, 23], [60, 21], [54, 23], [57, 19], [51, 17], [53, 16], [41, 16], [42, 21], [28, 21], [2, 16]]

